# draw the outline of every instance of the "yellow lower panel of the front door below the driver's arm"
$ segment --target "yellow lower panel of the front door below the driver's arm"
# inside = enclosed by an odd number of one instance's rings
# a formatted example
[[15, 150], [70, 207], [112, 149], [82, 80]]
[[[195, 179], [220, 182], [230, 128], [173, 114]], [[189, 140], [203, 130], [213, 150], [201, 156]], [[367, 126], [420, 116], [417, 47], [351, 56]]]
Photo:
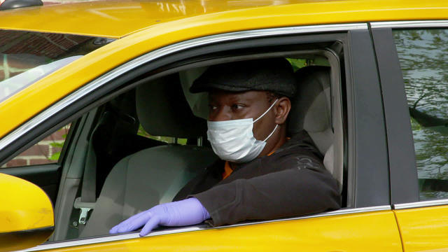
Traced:
[[[85, 243], [93, 241], [85, 239]], [[76, 248], [76, 251], [148, 251], [148, 248], [152, 251], [402, 251], [392, 211], [216, 228]], [[71, 246], [47, 251], [73, 249]]]

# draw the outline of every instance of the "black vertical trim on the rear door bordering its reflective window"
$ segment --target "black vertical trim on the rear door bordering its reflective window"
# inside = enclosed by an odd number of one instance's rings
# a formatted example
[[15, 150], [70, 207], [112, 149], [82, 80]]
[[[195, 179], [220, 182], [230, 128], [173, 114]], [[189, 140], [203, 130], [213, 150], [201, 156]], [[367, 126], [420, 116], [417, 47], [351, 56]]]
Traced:
[[372, 29], [386, 117], [391, 203], [419, 200], [414, 140], [405, 83], [391, 28]]

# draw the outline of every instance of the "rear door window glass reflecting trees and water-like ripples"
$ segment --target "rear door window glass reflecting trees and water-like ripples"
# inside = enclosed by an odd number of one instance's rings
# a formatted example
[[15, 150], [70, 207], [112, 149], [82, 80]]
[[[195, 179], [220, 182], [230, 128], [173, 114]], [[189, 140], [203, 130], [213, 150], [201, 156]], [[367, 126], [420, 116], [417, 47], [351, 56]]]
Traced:
[[448, 30], [394, 31], [421, 200], [448, 197]]

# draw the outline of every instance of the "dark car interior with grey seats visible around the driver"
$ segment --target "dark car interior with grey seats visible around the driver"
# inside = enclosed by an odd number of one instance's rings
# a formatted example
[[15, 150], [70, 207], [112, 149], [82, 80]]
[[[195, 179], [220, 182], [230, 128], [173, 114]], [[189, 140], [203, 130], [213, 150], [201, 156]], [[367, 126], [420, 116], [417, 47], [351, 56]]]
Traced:
[[[286, 57], [300, 60], [288, 135], [302, 130], [321, 152], [325, 168], [346, 193], [341, 62], [332, 50], [225, 57], [160, 71], [73, 121], [58, 163], [55, 232], [49, 241], [109, 235], [125, 218], [176, 193], [218, 158], [207, 141], [207, 94], [191, 94], [193, 80], [211, 64]], [[163, 229], [163, 228], [159, 228]]]

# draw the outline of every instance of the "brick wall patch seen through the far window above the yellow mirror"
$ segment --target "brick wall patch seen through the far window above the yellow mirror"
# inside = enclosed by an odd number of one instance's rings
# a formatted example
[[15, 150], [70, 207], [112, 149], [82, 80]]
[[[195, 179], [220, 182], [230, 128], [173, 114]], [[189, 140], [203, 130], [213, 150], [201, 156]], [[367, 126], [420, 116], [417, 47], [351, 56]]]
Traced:
[[1, 168], [6, 167], [21, 167], [26, 165], [43, 165], [57, 162], [58, 153], [62, 150], [66, 134], [69, 132], [69, 125], [66, 125], [61, 130], [45, 137], [31, 148], [17, 157], [10, 160]]

